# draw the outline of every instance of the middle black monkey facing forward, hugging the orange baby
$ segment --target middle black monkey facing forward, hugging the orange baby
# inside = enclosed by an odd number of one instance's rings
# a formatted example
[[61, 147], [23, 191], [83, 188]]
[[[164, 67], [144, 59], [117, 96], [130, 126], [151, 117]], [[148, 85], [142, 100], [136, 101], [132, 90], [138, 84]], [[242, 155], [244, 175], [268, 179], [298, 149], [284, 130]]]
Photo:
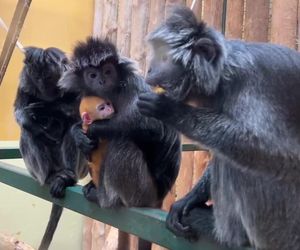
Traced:
[[[139, 113], [138, 95], [150, 92], [150, 86], [107, 40], [79, 43], [70, 68], [59, 83], [65, 92], [110, 100], [115, 111], [110, 119], [89, 125], [87, 133], [81, 123], [73, 125], [74, 140], [84, 153], [93, 150], [95, 140], [108, 141], [100, 185], [87, 184], [86, 198], [106, 208], [161, 207], [178, 175], [181, 142], [174, 129]], [[151, 243], [139, 241], [139, 249], [150, 248]]]

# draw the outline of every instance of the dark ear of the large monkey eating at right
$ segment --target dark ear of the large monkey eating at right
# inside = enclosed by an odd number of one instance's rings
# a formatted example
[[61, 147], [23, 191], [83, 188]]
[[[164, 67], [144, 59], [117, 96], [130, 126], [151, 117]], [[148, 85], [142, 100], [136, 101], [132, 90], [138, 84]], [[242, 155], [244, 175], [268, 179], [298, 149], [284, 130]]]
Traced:
[[212, 62], [217, 56], [216, 44], [209, 38], [198, 39], [198, 41], [195, 42], [193, 49], [208, 62]]

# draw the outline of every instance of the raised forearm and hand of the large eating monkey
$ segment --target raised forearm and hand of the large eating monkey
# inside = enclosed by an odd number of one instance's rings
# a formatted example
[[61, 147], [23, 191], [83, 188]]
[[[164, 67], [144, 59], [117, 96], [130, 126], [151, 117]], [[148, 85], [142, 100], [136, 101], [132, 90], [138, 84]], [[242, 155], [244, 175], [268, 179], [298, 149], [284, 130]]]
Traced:
[[254, 128], [246, 128], [225, 114], [207, 108], [193, 108], [163, 95], [141, 95], [138, 106], [142, 114], [162, 120], [241, 166], [279, 178], [295, 179], [300, 175], [297, 144], [295, 147], [285, 142], [278, 145], [272, 141], [273, 136], [266, 136], [263, 132], [256, 134]]

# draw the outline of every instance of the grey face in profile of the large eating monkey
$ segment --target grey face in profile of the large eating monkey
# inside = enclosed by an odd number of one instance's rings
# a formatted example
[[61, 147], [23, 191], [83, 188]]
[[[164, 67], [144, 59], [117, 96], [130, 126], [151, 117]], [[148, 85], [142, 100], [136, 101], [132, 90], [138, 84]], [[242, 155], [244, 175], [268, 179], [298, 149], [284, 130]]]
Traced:
[[152, 58], [146, 76], [151, 86], [159, 86], [166, 94], [183, 99], [186, 96], [184, 84], [185, 71], [180, 62], [175, 62], [166, 45], [155, 44], [152, 47]]

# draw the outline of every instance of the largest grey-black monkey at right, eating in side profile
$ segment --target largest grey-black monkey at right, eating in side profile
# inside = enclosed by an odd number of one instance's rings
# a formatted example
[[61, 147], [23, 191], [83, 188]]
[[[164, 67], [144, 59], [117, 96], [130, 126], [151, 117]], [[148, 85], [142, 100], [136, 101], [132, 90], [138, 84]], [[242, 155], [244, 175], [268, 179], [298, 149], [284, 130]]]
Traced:
[[[173, 204], [167, 227], [233, 247], [299, 249], [300, 54], [227, 40], [188, 8], [176, 8], [148, 41], [145, 81], [166, 93], [141, 94], [139, 111], [213, 154], [204, 177]], [[202, 104], [187, 105], [191, 96]]]

